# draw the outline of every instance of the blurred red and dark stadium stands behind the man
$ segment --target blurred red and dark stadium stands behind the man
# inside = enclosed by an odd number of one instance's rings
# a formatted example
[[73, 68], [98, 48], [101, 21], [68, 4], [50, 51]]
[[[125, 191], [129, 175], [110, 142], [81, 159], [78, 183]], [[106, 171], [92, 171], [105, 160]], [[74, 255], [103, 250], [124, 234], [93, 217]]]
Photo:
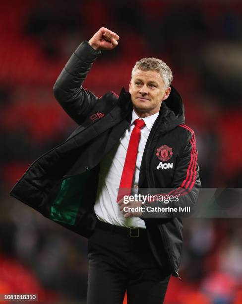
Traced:
[[[119, 94], [135, 61], [161, 58], [196, 134], [202, 187], [241, 187], [241, 0], [0, 1], [0, 294], [86, 303], [87, 240], [8, 193], [75, 129], [52, 88], [101, 26], [119, 34], [119, 46], [102, 53], [84, 87]], [[241, 304], [241, 219], [183, 223], [182, 279], [171, 279], [165, 304]]]

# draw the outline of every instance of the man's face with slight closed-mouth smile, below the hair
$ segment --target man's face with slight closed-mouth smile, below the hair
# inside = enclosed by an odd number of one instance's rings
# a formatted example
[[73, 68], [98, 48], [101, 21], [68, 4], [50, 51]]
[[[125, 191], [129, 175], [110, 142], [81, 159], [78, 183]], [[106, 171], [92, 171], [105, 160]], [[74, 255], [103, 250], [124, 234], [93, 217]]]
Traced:
[[134, 110], [141, 117], [159, 112], [170, 92], [171, 87], [165, 87], [162, 76], [156, 71], [136, 70], [129, 83]]

